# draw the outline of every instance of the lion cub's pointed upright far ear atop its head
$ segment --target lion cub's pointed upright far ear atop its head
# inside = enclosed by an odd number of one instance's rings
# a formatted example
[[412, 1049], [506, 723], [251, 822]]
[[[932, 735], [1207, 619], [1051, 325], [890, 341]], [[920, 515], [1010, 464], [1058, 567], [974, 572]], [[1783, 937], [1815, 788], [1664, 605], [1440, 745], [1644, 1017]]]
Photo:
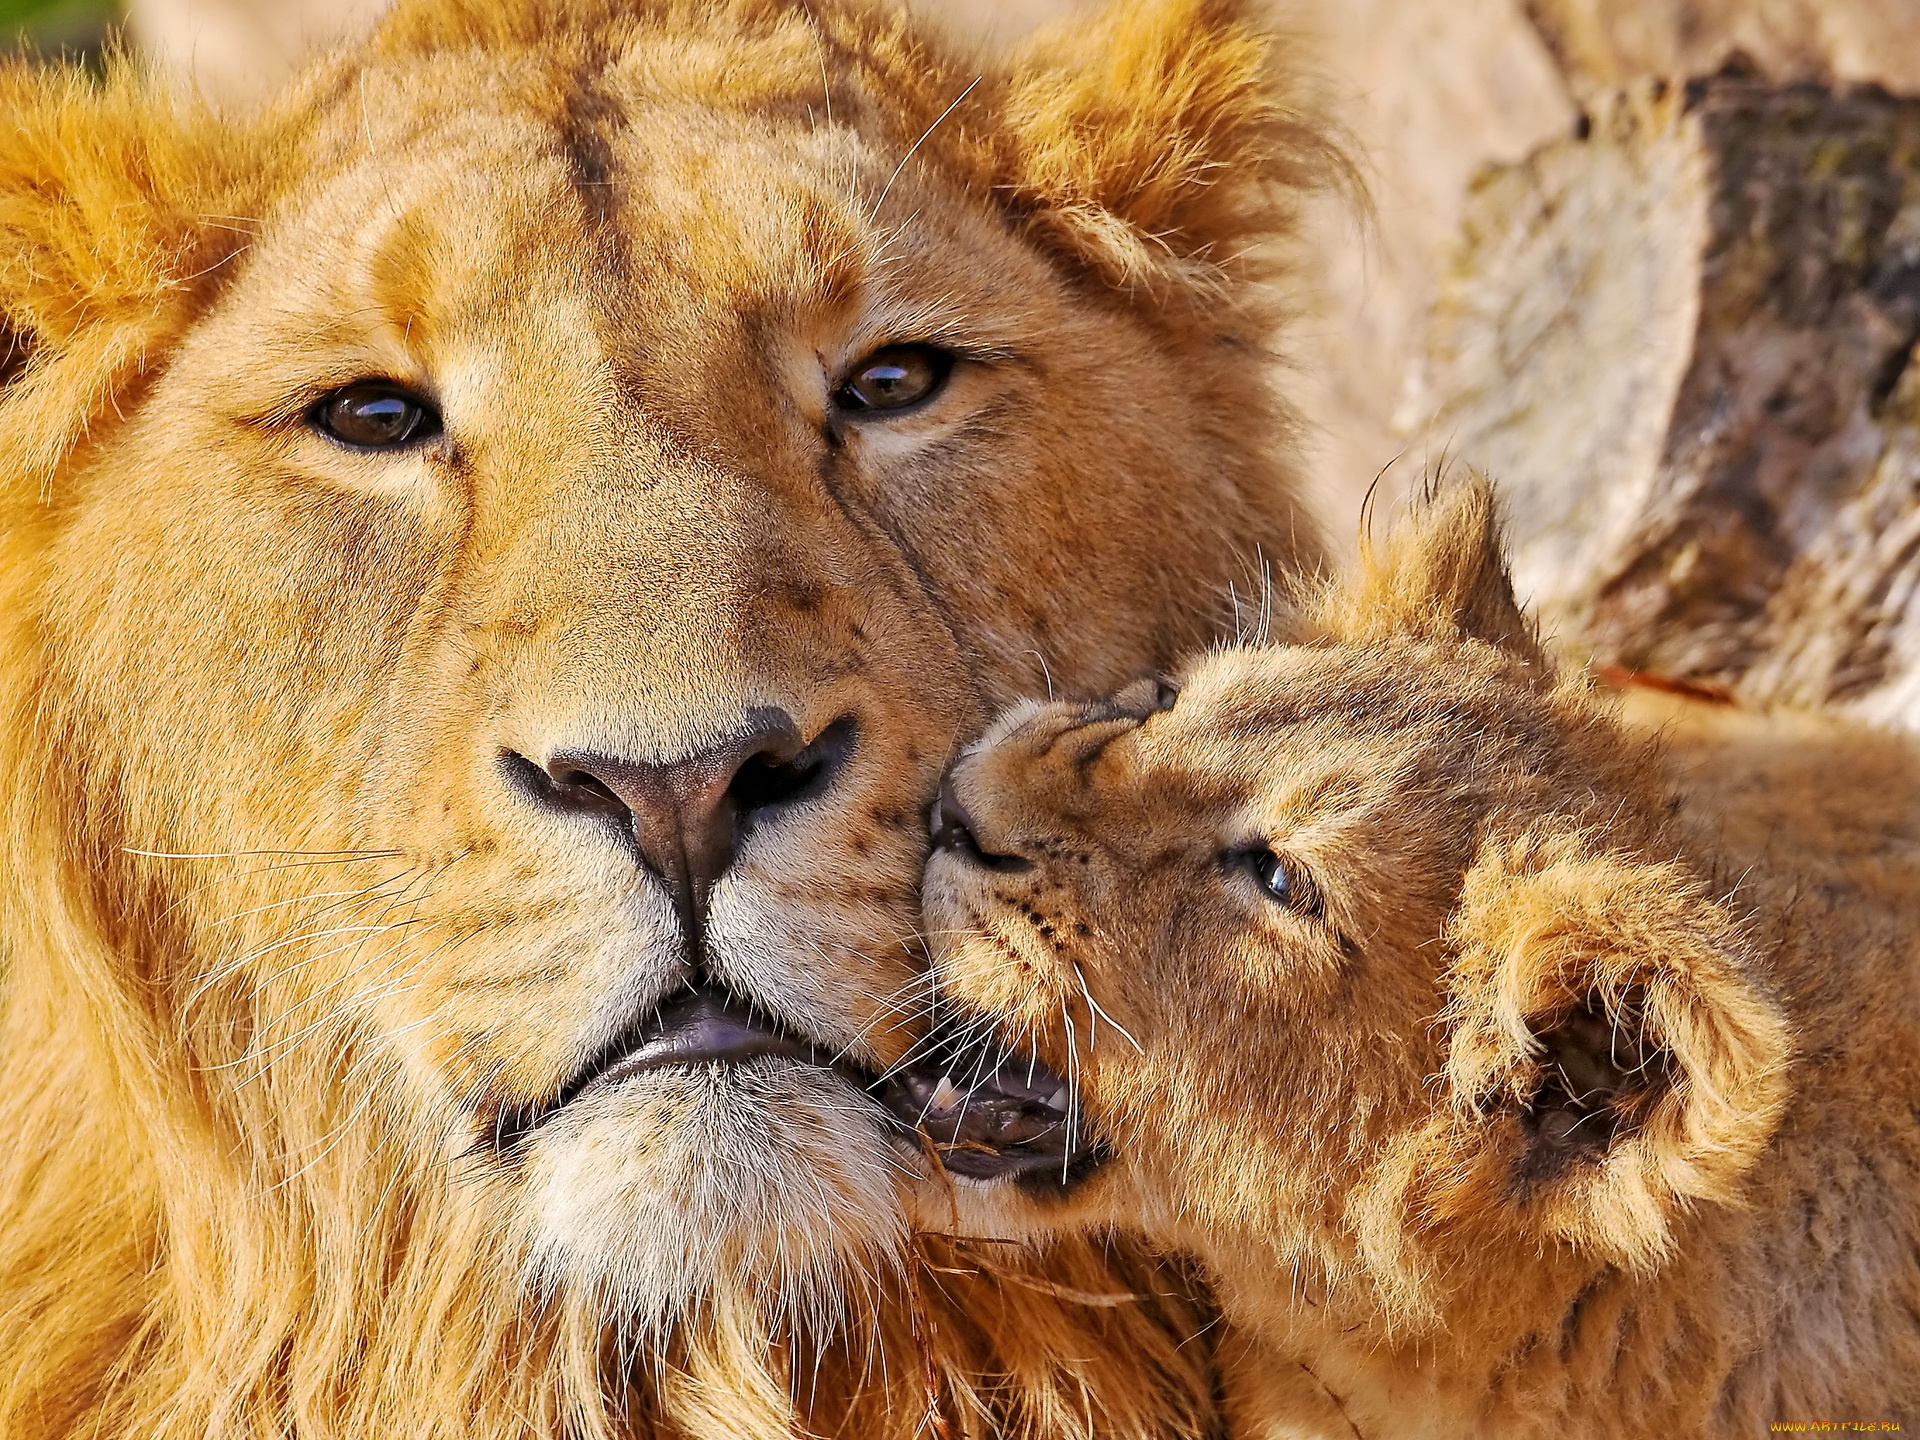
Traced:
[[1548, 666], [1534, 624], [1513, 597], [1500, 501], [1484, 476], [1450, 480], [1359, 568], [1327, 591], [1313, 628], [1348, 643], [1394, 636], [1484, 639]]

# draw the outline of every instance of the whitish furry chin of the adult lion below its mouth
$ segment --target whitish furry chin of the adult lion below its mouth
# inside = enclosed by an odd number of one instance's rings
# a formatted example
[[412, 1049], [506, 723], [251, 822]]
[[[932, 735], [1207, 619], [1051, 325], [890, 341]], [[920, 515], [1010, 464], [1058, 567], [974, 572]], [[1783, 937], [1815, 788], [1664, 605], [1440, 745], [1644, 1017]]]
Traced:
[[[831, 1338], [904, 1265], [885, 1116], [831, 1073], [710, 1066], [570, 1110], [526, 1169], [536, 1294], [589, 1296], [649, 1346], [714, 1294], [776, 1332]], [[636, 1150], [639, 1133], [653, 1139]]]

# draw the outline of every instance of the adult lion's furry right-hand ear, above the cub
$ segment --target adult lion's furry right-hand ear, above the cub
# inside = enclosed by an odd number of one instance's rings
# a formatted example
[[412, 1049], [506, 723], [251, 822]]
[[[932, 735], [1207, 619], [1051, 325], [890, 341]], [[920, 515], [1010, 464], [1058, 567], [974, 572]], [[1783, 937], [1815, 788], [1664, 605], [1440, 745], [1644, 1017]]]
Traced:
[[1217, 275], [1352, 169], [1244, 0], [1116, 0], [1035, 35], [1002, 188], [1114, 284]]

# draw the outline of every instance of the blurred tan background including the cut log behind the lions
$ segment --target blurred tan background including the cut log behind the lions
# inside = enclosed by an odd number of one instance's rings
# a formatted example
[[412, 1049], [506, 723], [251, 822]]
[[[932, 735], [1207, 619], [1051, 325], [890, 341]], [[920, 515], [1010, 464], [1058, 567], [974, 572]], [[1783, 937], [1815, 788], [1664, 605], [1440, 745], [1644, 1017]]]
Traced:
[[[987, 44], [1089, 0], [895, 0]], [[1096, 2], [1096, 0], [1091, 0]], [[1920, 0], [1269, 0], [1371, 219], [1306, 223], [1313, 501], [1488, 468], [1609, 662], [1920, 726]], [[0, 0], [223, 106], [382, 0]]]

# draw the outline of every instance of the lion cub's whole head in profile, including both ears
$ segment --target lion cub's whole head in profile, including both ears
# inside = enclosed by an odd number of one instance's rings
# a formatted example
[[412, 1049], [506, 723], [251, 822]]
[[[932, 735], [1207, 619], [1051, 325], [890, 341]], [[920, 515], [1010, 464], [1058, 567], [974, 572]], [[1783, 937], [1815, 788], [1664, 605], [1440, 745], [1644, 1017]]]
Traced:
[[1515, 1248], [1574, 1288], [1657, 1263], [1784, 1094], [1728, 881], [1534, 641], [1484, 484], [1300, 626], [1016, 708], [952, 768], [947, 1077], [906, 1089], [954, 1219], [1144, 1227], [1427, 1315], [1498, 1300]]

